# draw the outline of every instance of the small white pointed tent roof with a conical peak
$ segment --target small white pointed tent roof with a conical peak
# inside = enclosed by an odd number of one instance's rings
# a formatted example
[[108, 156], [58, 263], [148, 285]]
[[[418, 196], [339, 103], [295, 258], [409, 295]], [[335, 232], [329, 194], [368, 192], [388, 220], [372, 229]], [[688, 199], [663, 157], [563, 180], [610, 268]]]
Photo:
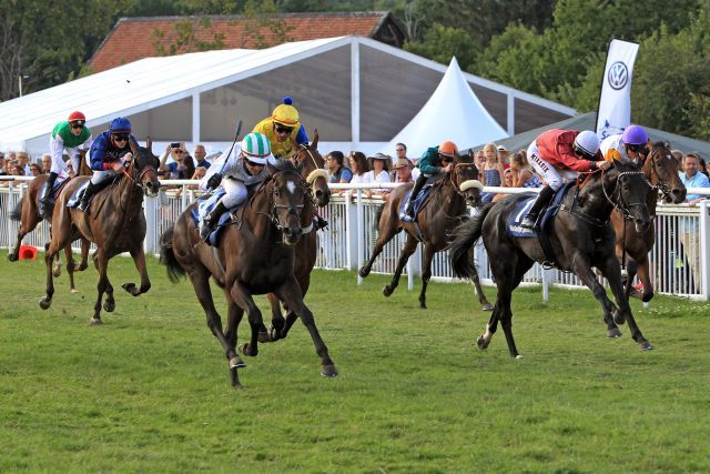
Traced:
[[506, 137], [508, 133], [490, 117], [466, 82], [458, 61], [452, 58], [424, 108], [383, 150], [394, 150], [402, 142], [407, 144], [407, 153], [420, 157], [445, 140], [465, 149]]

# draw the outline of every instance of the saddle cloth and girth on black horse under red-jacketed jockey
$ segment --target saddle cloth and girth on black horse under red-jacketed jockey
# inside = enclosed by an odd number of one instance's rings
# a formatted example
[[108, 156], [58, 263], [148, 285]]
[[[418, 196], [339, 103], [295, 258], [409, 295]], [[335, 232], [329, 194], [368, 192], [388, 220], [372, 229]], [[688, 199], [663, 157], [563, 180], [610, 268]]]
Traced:
[[530, 211], [530, 208], [532, 208], [532, 204], [535, 203], [535, 199], [537, 198], [535, 194], [531, 194], [526, 199], [520, 199], [516, 203], [515, 210], [508, 216], [508, 222], [506, 222], [507, 235], [518, 239], [537, 239], [540, 243], [540, 248], [542, 249], [547, 263], [552, 266], [559, 266], [559, 263], [557, 262], [557, 258], [552, 251], [552, 244], [548, 239], [549, 229], [560, 209], [560, 205], [562, 204], [562, 199], [565, 198], [567, 190], [572, 185], [575, 185], [574, 181], [568, 182], [555, 193], [550, 204], [548, 204], [548, 206], [541, 212], [539, 231], [520, 225], [520, 222], [523, 222], [523, 219], [528, 214], [528, 211]]

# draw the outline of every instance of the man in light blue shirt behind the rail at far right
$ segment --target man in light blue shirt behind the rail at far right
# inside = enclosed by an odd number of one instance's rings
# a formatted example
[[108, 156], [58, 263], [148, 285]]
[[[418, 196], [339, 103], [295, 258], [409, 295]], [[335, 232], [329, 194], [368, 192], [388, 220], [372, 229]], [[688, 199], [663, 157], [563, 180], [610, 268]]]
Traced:
[[[708, 177], [698, 171], [700, 157], [698, 153], [688, 153], [683, 158], [683, 171], [679, 171], [680, 180], [686, 188], [710, 188]], [[708, 199], [700, 194], [688, 194], [686, 201], [690, 205], [697, 205], [700, 201]], [[686, 253], [686, 259], [690, 264], [696, 286], [700, 284], [700, 232], [696, 219], [681, 218], [680, 221], [680, 242]]]

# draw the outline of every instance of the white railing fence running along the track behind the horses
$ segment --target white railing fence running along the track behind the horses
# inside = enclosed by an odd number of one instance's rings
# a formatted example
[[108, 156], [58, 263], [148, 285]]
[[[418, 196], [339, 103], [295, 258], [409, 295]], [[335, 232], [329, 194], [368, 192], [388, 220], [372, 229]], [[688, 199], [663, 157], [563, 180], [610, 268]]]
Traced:
[[[31, 178], [16, 177], [8, 186], [0, 186], [0, 246], [13, 248], [17, 240], [18, 223], [9, 219], [9, 212], [24, 193], [27, 181]], [[0, 178], [0, 181], [8, 181]], [[146, 199], [144, 212], [148, 223], [145, 251], [156, 254], [160, 250], [160, 235], [172, 224], [185, 208], [195, 199], [195, 185], [187, 180], [165, 180], [164, 186], [174, 186], [161, 191], [159, 198]], [[357, 270], [369, 258], [377, 238], [376, 213], [382, 206], [382, 198], [367, 199], [363, 190], [392, 189], [397, 184], [333, 184], [333, 190], [344, 190], [334, 194], [331, 203], [322, 209], [322, 215], [328, 221], [328, 228], [318, 232], [318, 254], [316, 268], [328, 270]], [[180, 192], [178, 192], [180, 190]], [[523, 193], [529, 189], [486, 188], [487, 192]], [[534, 191], [534, 190], [532, 190]], [[710, 195], [708, 189], [690, 189], [689, 194]], [[651, 276], [656, 291], [663, 294], [708, 300], [710, 296], [710, 202], [701, 201], [697, 206], [688, 204], [659, 204], [656, 218], [656, 246], [651, 251]], [[23, 240], [24, 244], [43, 249], [49, 240], [49, 226], [41, 223]], [[373, 272], [392, 274], [395, 271], [399, 250], [405, 240], [404, 232], [397, 234], [378, 256]], [[75, 249], [79, 250], [78, 248]], [[476, 248], [481, 281], [493, 284], [488, 258], [481, 244]], [[414, 288], [415, 276], [420, 273], [422, 254], [419, 250], [409, 259], [405, 268], [409, 289]], [[440, 252], [432, 265], [433, 279], [454, 281], [448, 264], [447, 252]], [[362, 279], [357, 278], [358, 283]], [[584, 286], [579, 279], [566, 272], [546, 270], [534, 265], [525, 275], [527, 284], [542, 284], [547, 299], [548, 285], [570, 288]]]

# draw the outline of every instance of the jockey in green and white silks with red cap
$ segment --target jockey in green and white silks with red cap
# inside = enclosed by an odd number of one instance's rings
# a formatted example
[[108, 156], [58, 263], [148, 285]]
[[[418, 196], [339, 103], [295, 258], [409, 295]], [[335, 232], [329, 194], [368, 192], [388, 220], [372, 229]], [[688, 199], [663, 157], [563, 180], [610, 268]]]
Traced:
[[57, 177], [62, 177], [62, 181], [69, 178], [67, 173], [67, 163], [63, 159], [64, 150], [67, 150], [74, 175], [79, 174], [79, 165], [81, 151], [89, 150], [91, 147], [91, 130], [85, 127], [87, 118], [81, 112], [72, 112], [69, 119], [54, 125], [52, 134], [49, 137], [49, 150], [52, 157], [52, 167], [47, 178], [44, 192], [40, 198], [39, 212], [44, 218], [47, 204], [52, 195], [52, 188]]

